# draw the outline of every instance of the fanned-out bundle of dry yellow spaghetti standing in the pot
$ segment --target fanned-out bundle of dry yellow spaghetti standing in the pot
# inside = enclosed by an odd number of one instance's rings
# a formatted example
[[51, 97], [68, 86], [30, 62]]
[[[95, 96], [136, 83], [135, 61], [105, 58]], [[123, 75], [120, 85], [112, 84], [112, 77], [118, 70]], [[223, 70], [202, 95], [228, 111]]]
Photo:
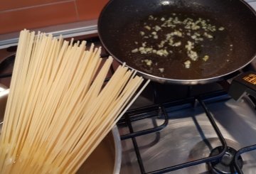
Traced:
[[85, 47], [21, 31], [0, 173], [75, 173], [142, 92], [147, 82], [124, 65], [106, 83], [112, 58]]

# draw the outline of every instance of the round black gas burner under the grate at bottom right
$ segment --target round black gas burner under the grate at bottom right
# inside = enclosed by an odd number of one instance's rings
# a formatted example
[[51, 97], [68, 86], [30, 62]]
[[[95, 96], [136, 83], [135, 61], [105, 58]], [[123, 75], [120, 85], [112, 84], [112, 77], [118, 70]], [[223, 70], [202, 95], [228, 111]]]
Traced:
[[[223, 150], [222, 146], [218, 146], [216, 148], [213, 148], [213, 150], [210, 152], [210, 156], [218, 155]], [[216, 174], [232, 174], [237, 173], [237, 170], [235, 169], [235, 151], [234, 148], [228, 147], [227, 151], [225, 151], [225, 154], [222, 158], [211, 161], [208, 163], [208, 168], [212, 173]], [[242, 168], [242, 157], [238, 157], [238, 166], [239, 168]]]

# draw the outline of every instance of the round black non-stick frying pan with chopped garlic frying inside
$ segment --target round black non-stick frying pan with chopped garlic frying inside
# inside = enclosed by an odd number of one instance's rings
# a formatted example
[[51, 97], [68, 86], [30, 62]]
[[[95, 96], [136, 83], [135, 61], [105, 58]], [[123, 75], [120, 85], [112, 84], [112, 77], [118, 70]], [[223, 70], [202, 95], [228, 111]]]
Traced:
[[[187, 16], [195, 21], [203, 18], [217, 28], [225, 28], [217, 29], [213, 39], [201, 43], [198, 55], [209, 55], [207, 61], [192, 60], [191, 67], [186, 68], [185, 44], [166, 56], [132, 53], [145, 41], [139, 33], [149, 23], [149, 16], [159, 20], [171, 15], [183, 19]], [[172, 28], [166, 30], [162, 32], [173, 31]], [[142, 76], [161, 83], [196, 85], [223, 80], [256, 57], [256, 13], [242, 0], [113, 0], [100, 13], [98, 33], [102, 44], [116, 60], [126, 62]], [[146, 41], [154, 47], [160, 40], [147, 38]], [[153, 63], [146, 65], [146, 59]]]

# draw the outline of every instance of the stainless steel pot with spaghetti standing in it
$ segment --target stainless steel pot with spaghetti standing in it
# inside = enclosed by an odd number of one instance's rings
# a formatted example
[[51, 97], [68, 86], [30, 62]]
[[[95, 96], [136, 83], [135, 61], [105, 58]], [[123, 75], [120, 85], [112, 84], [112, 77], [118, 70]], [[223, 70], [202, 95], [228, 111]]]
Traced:
[[[0, 133], [8, 94], [9, 89], [0, 85]], [[90, 157], [87, 158], [78, 173], [119, 173], [122, 160], [121, 147], [119, 132], [115, 126]]]

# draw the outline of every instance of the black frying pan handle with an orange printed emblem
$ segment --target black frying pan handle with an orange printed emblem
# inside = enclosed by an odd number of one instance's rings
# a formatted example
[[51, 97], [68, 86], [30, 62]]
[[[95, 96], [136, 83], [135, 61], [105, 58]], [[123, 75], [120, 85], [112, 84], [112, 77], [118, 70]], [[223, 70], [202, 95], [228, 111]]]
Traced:
[[256, 97], [256, 72], [249, 71], [235, 77], [230, 84], [228, 94], [235, 100], [240, 99], [244, 94]]

